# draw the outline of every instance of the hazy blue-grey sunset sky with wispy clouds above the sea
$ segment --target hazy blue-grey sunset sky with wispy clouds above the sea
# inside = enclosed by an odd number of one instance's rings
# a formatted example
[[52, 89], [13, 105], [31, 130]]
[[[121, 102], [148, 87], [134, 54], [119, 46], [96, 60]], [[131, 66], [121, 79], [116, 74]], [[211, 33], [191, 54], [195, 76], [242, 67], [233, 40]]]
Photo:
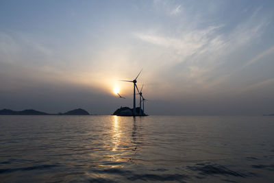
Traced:
[[[274, 113], [274, 1], [0, 1], [0, 109]], [[126, 99], [114, 94], [115, 87]], [[139, 105], [138, 96], [136, 103]]]

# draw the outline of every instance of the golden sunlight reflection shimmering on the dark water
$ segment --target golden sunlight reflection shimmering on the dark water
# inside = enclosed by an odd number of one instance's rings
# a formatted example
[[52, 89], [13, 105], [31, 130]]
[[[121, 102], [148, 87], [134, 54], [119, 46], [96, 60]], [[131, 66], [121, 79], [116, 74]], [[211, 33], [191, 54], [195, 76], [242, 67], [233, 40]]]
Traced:
[[[138, 119], [137, 121], [141, 121]], [[140, 125], [140, 123], [139, 123]], [[137, 133], [136, 119], [110, 116], [103, 122], [105, 132], [101, 134], [101, 143], [95, 149], [100, 153], [90, 154], [90, 160], [98, 162], [97, 167], [105, 169], [123, 168], [128, 163], [135, 164], [134, 157], [140, 147], [141, 136]], [[103, 149], [103, 151], [101, 151]], [[89, 176], [93, 174], [88, 173]], [[100, 175], [110, 178], [108, 175]]]

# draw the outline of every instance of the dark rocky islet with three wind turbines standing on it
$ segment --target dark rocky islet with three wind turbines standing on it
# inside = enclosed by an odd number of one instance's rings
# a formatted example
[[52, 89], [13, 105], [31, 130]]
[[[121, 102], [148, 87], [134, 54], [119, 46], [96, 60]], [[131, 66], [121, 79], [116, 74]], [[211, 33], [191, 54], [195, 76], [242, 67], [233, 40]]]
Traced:
[[[144, 97], [142, 97], [142, 88], [144, 86], [144, 84], [142, 85], [141, 90], [139, 91], [138, 87], [137, 87], [137, 78], [140, 75], [140, 73], [142, 72], [142, 70], [138, 73], [137, 77], [134, 80], [120, 80], [121, 82], [132, 82], [133, 83], [133, 108], [128, 108], [128, 107], [121, 107], [119, 109], [117, 109], [113, 115], [117, 115], [117, 116], [127, 116], [127, 117], [135, 117], [135, 116], [147, 116], [147, 114], [145, 114], [144, 109], [144, 103], [145, 101], [147, 101], [147, 99], [145, 99]], [[136, 94], [136, 90], [137, 89], [138, 93]], [[119, 95], [119, 94], [118, 94]], [[135, 95], [139, 95], [140, 96], [140, 107], [136, 108], [136, 96]], [[120, 95], [119, 95], [120, 96]], [[120, 96], [121, 98], [121, 96]]]

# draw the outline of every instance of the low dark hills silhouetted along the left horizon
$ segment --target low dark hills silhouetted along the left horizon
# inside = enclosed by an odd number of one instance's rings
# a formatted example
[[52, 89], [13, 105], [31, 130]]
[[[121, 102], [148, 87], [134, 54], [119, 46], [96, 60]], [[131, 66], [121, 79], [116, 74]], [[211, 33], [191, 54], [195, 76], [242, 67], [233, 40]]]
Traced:
[[86, 110], [78, 108], [75, 110], [70, 110], [68, 112], [59, 112], [58, 114], [49, 114], [47, 112], [40, 112], [38, 110], [28, 109], [15, 111], [10, 109], [0, 110], [0, 115], [90, 115]]

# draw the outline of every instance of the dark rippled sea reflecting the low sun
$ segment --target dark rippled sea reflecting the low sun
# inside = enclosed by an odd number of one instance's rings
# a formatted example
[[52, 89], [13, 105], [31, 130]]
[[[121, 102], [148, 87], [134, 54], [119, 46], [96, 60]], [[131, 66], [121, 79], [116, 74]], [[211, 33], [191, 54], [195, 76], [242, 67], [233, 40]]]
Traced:
[[274, 182], [274, 117], [0, 116], [0, 182]]

